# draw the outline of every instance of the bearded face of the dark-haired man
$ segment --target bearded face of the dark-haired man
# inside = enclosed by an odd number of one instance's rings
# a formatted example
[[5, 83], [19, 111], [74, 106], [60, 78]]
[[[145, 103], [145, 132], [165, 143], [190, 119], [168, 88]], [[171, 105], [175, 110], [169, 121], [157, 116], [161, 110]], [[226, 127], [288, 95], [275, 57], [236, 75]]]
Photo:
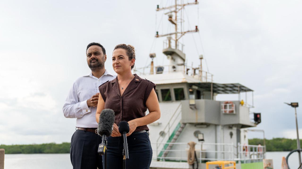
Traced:
[[92, 45], [86, 52], [87, 64], [92, 71], [98, 71], [104, 68], [107, 56], [103, 54], [102, 48], [98, 45]]

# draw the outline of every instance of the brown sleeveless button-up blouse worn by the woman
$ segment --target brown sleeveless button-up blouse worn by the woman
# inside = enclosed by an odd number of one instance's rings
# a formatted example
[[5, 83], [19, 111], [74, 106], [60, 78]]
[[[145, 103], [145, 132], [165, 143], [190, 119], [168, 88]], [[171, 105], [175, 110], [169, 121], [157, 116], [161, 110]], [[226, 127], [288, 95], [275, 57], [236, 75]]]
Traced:
[[[117, 77], [99, 86], [100, 94], [105, 102], [105, 109], [112, 109], [115, 112], [115, 124], [120, 121], [130, 121], [135, 118], [144, 117], [147, 107], [146, 101], [152, 89], [155, 90], [155, 84], [140, 78], [134, 74], [125, 89], [123, 95], [120, 95]], [[147, 125], [139, 126], [135, 131], [148, 131]]]

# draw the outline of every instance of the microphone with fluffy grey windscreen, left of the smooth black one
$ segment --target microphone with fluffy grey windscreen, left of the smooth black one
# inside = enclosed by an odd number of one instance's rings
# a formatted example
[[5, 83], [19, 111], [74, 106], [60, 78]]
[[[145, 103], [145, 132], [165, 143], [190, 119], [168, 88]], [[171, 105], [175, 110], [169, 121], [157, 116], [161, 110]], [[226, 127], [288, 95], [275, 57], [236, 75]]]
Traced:
[[98, 154], [104, 155], [106, 151], [107, 137], [109, 137], [113, 130], [114, 124], [114, 111], [112, 109], [104, 109], [101, 112], [99, 121], [98, 121], [98, 135], [102, 136], [102, 143], [98, 145]]

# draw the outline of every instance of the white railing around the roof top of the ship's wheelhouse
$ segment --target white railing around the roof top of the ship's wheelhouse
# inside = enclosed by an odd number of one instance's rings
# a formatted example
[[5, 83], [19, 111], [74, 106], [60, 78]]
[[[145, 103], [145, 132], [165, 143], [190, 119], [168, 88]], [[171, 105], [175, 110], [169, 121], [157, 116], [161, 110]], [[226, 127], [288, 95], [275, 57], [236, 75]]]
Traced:
[[[176, 66], [183, 66], [183, 69], [173, 69]], [[134, 68], [133, 73], [137, 73], [138, 75], [150, 75], [151, 72], [154, 74], [168, 74], [173, 72], [182, 72], [186, 75], [192, 76], [195, 79], [198, 79], [202, 82], [213, 82], [213, 74], [207, 71], [200, 70], [200, 67], [192, 67], [186, 64], [182, 65], [160, 65], [154, 66], [153, 71], [151, 71], [152, 66], [145, 66], [140, 68]]]

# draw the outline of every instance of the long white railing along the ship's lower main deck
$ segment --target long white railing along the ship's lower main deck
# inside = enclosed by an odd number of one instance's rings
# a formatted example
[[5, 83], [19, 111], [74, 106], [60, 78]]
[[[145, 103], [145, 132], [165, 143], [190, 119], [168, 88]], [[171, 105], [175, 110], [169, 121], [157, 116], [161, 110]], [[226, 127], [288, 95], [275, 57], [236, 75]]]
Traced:
[[[166, 142], [151, 143], [154, 145], [164, 145]], [[172, 144], [172, 149], [165, 150], [167, 156], [158, 156], [156, 152], [161, 149], [153, 148], [154, 161], [174, 161], [174, 162], [187, 162], [188, 160], [188, 143], [169, 143]], [[241, 150], [243, 146], [248, 148], [248, 151]], [[205, 148], [205, 149], [203, 149]], [[262, 148], [263, 151], [260, 151]], [[195, 152], [199, 163], [205, 161], [238, 161], [239, 163], [258, 162], [265, 158], [265, 146], [233, 144], [233, 143], [196, 143]]]

